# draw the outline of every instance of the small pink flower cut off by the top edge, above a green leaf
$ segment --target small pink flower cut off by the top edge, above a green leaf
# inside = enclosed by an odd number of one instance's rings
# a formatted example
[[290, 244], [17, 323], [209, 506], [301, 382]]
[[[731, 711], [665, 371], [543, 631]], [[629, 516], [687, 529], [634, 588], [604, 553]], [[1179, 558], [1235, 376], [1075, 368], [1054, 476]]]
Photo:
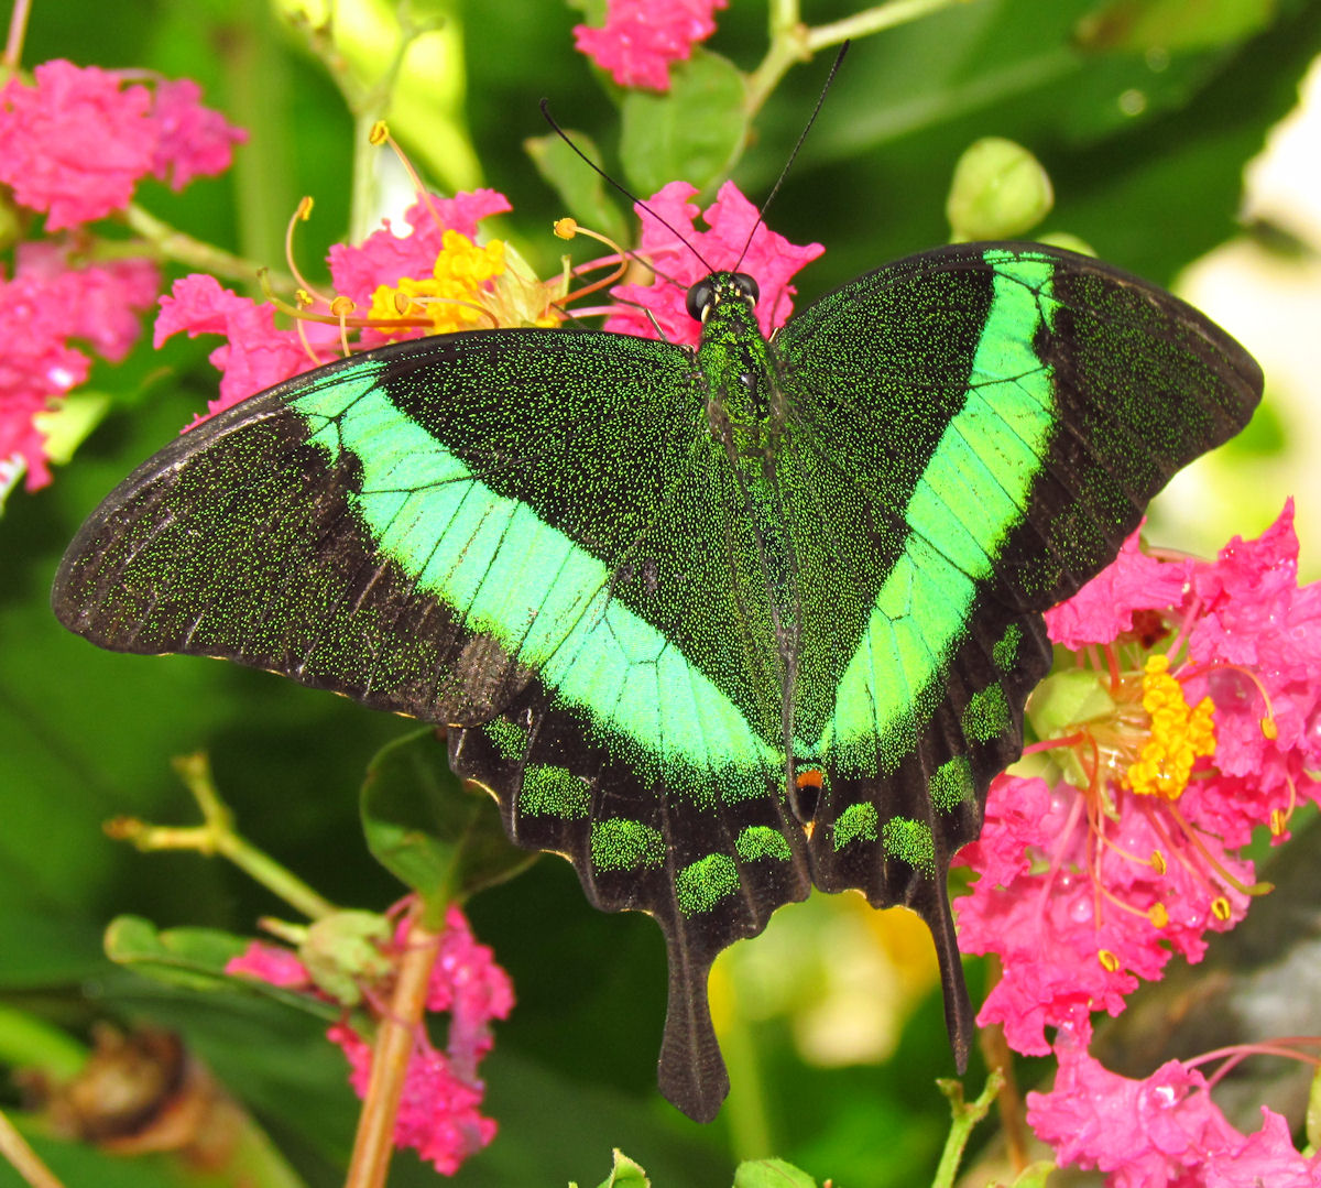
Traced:
[[609, 0], [605, 25], [573, 26], [575, 49], [621, 87], [670, 90], [670, 63], [716, 32], [712, 13], [729, 0]]

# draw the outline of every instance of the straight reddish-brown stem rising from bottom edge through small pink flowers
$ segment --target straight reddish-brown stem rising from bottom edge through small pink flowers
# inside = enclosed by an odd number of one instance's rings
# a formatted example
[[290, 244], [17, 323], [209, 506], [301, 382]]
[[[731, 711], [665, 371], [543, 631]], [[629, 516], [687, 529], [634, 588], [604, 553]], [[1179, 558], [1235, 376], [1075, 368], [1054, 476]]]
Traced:
[[390, 1007], [376, 1029], [371, 1053], [371, 1080], [358, 1115], [358, 1132], [353, 1140], [353, 1158], [345, 1188], [384, 1188], [394, 1151], [395, 1115], [408, 1072], [421, 1012], [427, 1003], [431, 967], [440, 951], [440, 936], [420, 922], [421, 904], [413, 908], [404, 953], [399, 962]]

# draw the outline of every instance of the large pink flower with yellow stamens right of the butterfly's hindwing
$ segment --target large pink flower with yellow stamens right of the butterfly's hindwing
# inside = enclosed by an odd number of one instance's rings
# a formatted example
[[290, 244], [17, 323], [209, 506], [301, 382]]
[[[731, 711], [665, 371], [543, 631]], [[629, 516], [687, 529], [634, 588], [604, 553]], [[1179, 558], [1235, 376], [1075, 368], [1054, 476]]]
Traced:
[[1055, 770], [992, 782], [959, 855], [980, 877], [955, 904], [960, 947], [1001, 959], [979, 1020], [1017, 1051], [1118, 1015], [1176, 953], [1201, 959], [1258, 893], [1236, 851], [1316, 798], [1321, 588], [1297, 588], [1296, 560], [1291, 506], [1215, 562], [1133, 538], [1049, 613], [1057, 641], [1087, 645], [1029, 702], [1032, 761]]

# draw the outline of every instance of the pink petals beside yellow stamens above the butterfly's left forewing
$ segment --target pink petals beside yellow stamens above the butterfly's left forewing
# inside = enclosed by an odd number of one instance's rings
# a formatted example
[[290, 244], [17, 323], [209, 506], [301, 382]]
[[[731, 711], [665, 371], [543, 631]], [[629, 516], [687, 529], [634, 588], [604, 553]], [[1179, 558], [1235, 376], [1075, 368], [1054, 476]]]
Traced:
[[[330, 276], [336, 291], [349, 297], [357, 309], [367, 309], [378, 285], [394, 285], [400, 278], [429, 274], [446, 230], [474, 238], [478, 222], [509, 209], [509, 200], [495, 190], [476, 190], [453, 198], [427, 196], [404, 215], [408, 234], [396, 234], [386, 219], [382, 229], [361, 244], [337, 243], [330, 248]], [[312, 312], [325, 315], [326, 309], [322, 303], [314, 305]], [[275, 324], [273, 307], [239, 296], [214, 276], [197, 272], [174, 281], [170, 293], [161, 297], [156, 346], [181, 330], [190, 338], [223, 334], [229, 340], [210, 355], [222, 379], [219, 396], [207, 404], [209, 415], [330, 362], [338, 355], [341, 341], [334, 318], [301, 321], [293, 329], [281, 329]], [[419, 329], [412, 336], [420, 333]], [[410, 334], [396, 330], [391, 337]], [[366, 349], [387, 341], [386, 334], [367, 326], [361, 330], [357, 345]]]

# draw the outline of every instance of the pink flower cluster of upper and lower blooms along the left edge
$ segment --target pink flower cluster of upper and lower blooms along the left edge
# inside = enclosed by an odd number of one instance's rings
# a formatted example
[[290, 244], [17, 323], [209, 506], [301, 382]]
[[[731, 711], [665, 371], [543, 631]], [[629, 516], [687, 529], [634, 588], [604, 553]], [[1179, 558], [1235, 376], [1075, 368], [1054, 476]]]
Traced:
[[11, 321], [0, 363], [0, 463], [25, 469], [29, 490], [50, 481], [38, 415], [87, 379], [87, 349], [111, 362], [128, 353], [160, 291], [149, 259], [95, 263], [83, 225], [127, 206], [147, 176], [181, 189], [227, 169], [246, 136], [202, 107], [188, 79], [148, 89], [65, 61], [33, 74], [32, 85], [15, 77], [0, 87], [0, 182], [20, 207], [45, 214], [48, 233], [79, 234], [20, 243], [13, 275], [0, 278]]

